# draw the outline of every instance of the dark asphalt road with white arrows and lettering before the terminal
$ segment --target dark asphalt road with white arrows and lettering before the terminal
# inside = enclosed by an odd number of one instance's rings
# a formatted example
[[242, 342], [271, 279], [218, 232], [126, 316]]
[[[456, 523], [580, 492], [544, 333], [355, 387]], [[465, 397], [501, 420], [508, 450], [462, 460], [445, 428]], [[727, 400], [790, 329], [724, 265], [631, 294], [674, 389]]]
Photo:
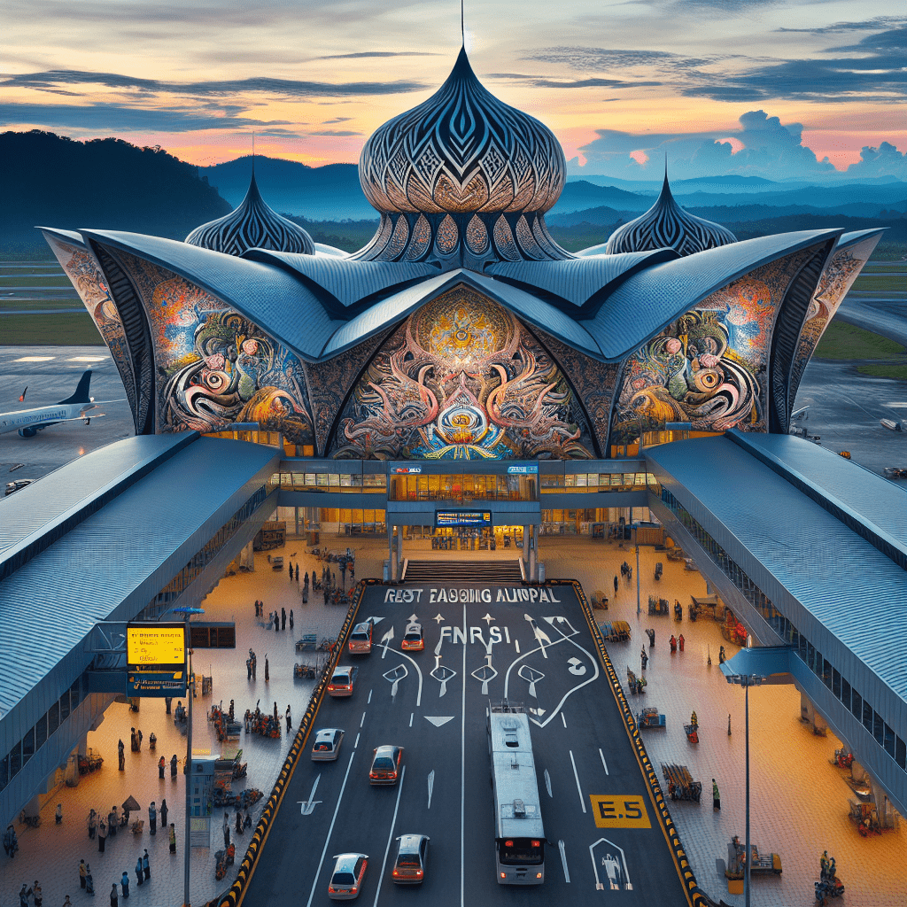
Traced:
[[[571, 588], [549, 588], [551, 601], [514, 603], [498, 601], [497, 587], [490, 601], [470, 603], [438, 601], [428, 586], [405, 588], [412, 600], [399, 604], [385, 601], [398, 588], [366, 591], [358, 619], [374, 619], [375, 645], [370, 655], [341, 657], [359, 668], [354, 695], [326, 697], [315, 722], [346, 730], [340, 757], [312, 762], [309, 743], [244, 904], [288, 902], [289, 892], [305, 907], [326, 904], [332, 857], [344, 852], [369, 856], [359, 902], [372, 907], [685, 904]], [[425, 649], [402, 653], [413, 614]], [[489, 702], [504, 697], [531, 710], [548, 841], [541, 887], [496, 883], [485, 716]], [[394, 787], [368, 784], [372, 751], [383, 744], [405, 747], [405, 773]], [[303, 814], [309, 801], [316, 805]], [[400, 834], [431, 837], [421, 886], [389, 879]]]

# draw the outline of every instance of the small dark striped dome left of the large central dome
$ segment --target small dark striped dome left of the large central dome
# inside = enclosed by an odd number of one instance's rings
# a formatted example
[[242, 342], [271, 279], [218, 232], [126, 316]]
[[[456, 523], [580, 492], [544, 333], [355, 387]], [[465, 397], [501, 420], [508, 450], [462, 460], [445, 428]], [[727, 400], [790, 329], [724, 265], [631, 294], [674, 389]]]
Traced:
[[186, 242], [202, 249], [240, 256], [247, 249], [315, 254], [315, 243], [292, 220], [280, 217], [258, 192], [255, 171], [242, 204], [226, 217], [211, 220], [192, 230]]

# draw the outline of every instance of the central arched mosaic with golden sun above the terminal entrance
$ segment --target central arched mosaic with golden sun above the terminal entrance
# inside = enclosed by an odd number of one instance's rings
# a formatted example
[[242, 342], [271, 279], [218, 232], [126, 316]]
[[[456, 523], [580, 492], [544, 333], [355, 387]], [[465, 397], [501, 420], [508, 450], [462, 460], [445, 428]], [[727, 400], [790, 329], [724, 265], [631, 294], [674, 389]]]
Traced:
[[455, 287], [395, 330], [359, 379], [330, 455], [589, 459], [559, 366], [507, 309]]

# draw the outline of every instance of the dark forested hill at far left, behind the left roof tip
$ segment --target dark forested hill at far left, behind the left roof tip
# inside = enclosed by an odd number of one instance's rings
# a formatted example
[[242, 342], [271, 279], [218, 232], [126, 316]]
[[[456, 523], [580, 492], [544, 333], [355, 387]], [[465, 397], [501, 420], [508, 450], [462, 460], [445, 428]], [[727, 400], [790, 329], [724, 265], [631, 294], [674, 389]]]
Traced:
[[37, 130], [0, 135], [0, 200], [0, 249], [42, 256], [48, 249], [37, 225], [185, 239], [230, 210], [198, 168], [160, 148]]

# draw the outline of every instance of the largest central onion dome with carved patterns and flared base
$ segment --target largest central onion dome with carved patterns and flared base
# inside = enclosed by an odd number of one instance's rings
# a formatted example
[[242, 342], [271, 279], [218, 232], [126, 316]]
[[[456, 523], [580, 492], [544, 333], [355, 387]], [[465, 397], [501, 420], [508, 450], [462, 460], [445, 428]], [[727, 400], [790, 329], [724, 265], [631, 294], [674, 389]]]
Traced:
[[381, 224], [354, 258], [571, 258], [543, 218], [565, 170], [551, 131], [487, 91], [461, 50], [437, 92], [366, 141], [359, 181]]

